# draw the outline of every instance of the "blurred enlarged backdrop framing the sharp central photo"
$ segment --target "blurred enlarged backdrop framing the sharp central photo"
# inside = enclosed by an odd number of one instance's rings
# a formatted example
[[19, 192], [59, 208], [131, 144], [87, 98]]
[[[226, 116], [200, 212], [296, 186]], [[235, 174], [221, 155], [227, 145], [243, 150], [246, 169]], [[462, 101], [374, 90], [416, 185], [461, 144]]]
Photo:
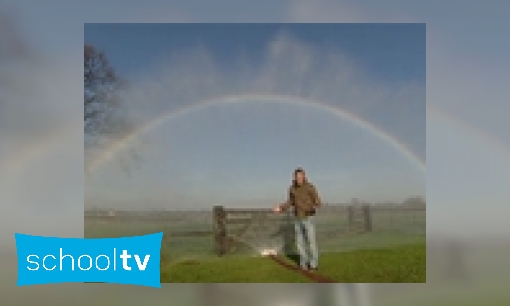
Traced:
[[[9, 2], [9, 1], [5, 1]], [[507, 4], [499, 5], [491, 2], [486, 9], [480, 9], [475, 1], [466, 2], [465, 6], [452, 3], [454, 8], [442, 7], [438, 10], [439, 2], [385, 2], [375, 1], [366, 3], [334, 1], [293, 1], [292, 3], [257, 3], [250, 5], [248, 9], [240, 10], [239, 7], [224, 5], [214, 9], [208, 7], [204, 10], [196, 3], [169, 4], [168, 2], [151, 1], [151, 5], [140, 5], [138, 2], [129, 2], [119, 8], [118, 3], [102, 2], [101, 9], [90, 2], [55, 3], [48, 2], [46, 5], [35, 5], [29, 1], [10, 1], [10, 7], [16, 8], [20, 27], [26, 30], [21, 35], [21, 41], [33, 42], [33, 53], [42, 59], [48, 66], [55, 64], [60, 67], [58, 73], [54, 71], [51, 78], [42, 66], [35, 65], [25, 69], [21, 73], [23, 65], [32, 66], [32, 62], [25, 58], [17, 58], [19, 51], [11, 55], [2, 54], [0, 75], [0, 205], [3, 212], [0, 217], [2, 235], [0, 246], [3, 248], [2, 271], [0, 290], [3, 301], [17, 305], [33, 305], [34, 303], [51, 303], [52, 305], [95, 305], [98, 303], [112, 303], [123, 305], [135, 305], [140, 303], [180, 303], [189, 305], [233, 305], [252, 302], [253, 305], [314, 305], [314, 297], [324, 291], [345, 293], [340, 289], [355, 289], [356, 285], [334, 286], [308, 286], [308, 285], [223, 285], [220, 288], [214, 285], [170, 285], [163, 286], [163, 290], [154, 291], [147, 288], [133, 288], [125, 286], [105, 286], [104, 284], [62, 284], [34, 288], [15, 287], [16, 258], [13, 233], [25, 232], [32, 234], [58, 234], [58, 236], [81, 236], [83, 230], [83, 126], [82, 126], [82, 30], [83, 22], [175, 22], [183, 19], [197, 22], [211, 21], [291, 21], [291, 22], [427, 22], [427, 103], [436, 107], [442, 107], [450, 114], [463, 119], [468, 124], [477, 124], [485, 130], [486, 136], [469, 133], [460, 133], [463, 138], [452, 137], [454, 127], [445, 125], [441, 135], [430, 136], [427, 139], [427, 193], [435, 188], [445, 186], [451, 188], [448, 193], [437, 193], [428, 199], [428, 220], [443, 224], [440, 231], [431, 232], [432, 240], [442, 240], [444, 244], [449, 239], [457, 239], [459, 234], [465, 241], [472, 243], [466, 251], [468, 259], [466, 270], [471, 282], [459, 281], [452, 278], [428, 279], [426, 285], [399, 285], [399, 284], [367, 284], [372, 295], [372, 305], [430, 305], [431, 303], [452, 305], [454, 303], [467, 304], [477, 303], [487, 305], [490, 303], [508, 304], [507, 280], [508, 260], [504, 257], [508, 254], [508, 222], [498, 221], [498, 226], [493, 225], [495, 217], [503, 220], [508, 211], [505, 205], [508, 202], [508, 194], [500, 192], [499, 186], [503, 181], [497, 176], [446, 176], [441, 180], [443, 173], [440, 170], [454, 172], [453, 169], [444, 168], [440, 165], [448, 164], [449, 161], [457, 161], [462, 156], [463, 149], [455, 154], [455, 147], [459, 143], [470, 143], [479, 148], [479, 155], [473, 155], [469, 160], [464, 160], [462, 167], [470, 165], [486, 165], [487, 160], [497, 159], [500, 164], [494, 162], [487, 166], [488, 173], [496, 169], [496, 173], [505, 169], [502, 165], [508, 164], [508, 158], [502, 157], [497, 149], [483, 147], [480, 143], [488, 137], [501, 135], [508, 127], [508, 120], [501, 117], [508, 105], [508, 89], [504, 86], [507, 82], [506, 67], [508, 66], [508, 44], [501, 34], [507, 28]], [[53, 4], [53, 5], [52, 5]], [[375, 7], [370, 4], [376, 4]], [[434, 5], [437, 4], [437, 5]], [[76, 6], [78, 6], [76, 8]], [[256, 6], [256, 7], [254, 7]], [[58, 8], [58, 9], [57, 9]], [[11, 13], [10, 11], [8, 13]], [[178, 15], [178, 17], [176, 17]], [[503, 17], [501, 17], [503, 16]], [[3, 31], [4, 27], [0, 28]], [[499, 35], [498, 35], [499, 34]], [[35, 38], [35, 39], [34, 39]], [[5, 41], [0, 39], [0, 46]], [[9, 44], [8, 44], [9, 45]], [[43, 50], [55, 51], [54, 54], [41, 54]], [[16, 59], [14, 59], [16, 58]], [[9, 63], [10, 72], [7, 73], [4, 63]], [[24, 63], [24, 64], [23, 64]], [[50, 63], [52, 63], [50, 65]], [[18, 66], [19, 64], [19, 66]], [[45, 67], [48, 67], [45, 66]], [[10, 77], [13, 71], [21, 74], [22, 80], [31, 80], [31, 84], [51, 84], [44, 94], [36, 97], [28, 97], [26, 87], [18, 87], [16, 90], [11, 86], [4, 86], [3, 80]], [[30, 73], [28, 73], [30, 72]], [[37, 73], [36, 73], [37, 72]], [[28, 82], [28, 81], [27, 81]], [[17, 85], [27, 84], [18, 79]], [[64, 86], [66, 84], [66, 86]], [[68, 87], [67, 85], [71, 86]], [[501, 86], [503, 85], [503, 86]], [[69, 88], [74, 88], [70, 90]], [[48, 92], [55, 94], [56, 99], [48, 98]], [[57, 95], [60, 93], [60, 95]], [[4, 98], [8, 96], [9, 98]], [[75, 102], [73, 102], [75, 101]], [[483, 101], [481, 103], [480, 101]], [[57, 107], [61, 104], [62, 107]], [[21, 109], [30, 109], [33, 105], [53, 105], [45, 107], [49, 113], [41, 116], [40, 126], [59, 126], [69, 128], [68, 137], [63, 137], [56, 132], [48, 134], [52, 139], [51, 145], [45, 146], [45, 137], [41, 131], [35, 129], [26, 130], [24, 125], [35, 122], [36, 115]], [[66, 106], [68, 108], [66, 108]], [[462, 106], [462, 109], [458, 108]], [[63, 124], [65, 119], [63, 110], [69, 111], [69, 126]], [[482, 116], [483, 114], [483, 116]], [[50, 119], [51, 117], [51, 119]], [[42, 118], [42, 119], [41, 119]], [[5, 122], [16, 124], [16, 128], [7, 126]], [[437, 123], [427, 122], [428, 125]], [[437, 125], [436, 125], [437, 126]], [[494, 127], [503, 129], [498, 130]], [[65, 129], [62, 129], [65, 130]], [[43, 129], [44, 132], [49, 130]], [[65, 133], [64, 133], [65, 134]], [[437, 141], [440, 136], [444, 141]], [[458, 136], [458, 135], [457, 135]], [[78, 149], [73, 149], [74, 140], [79, 140]], [[441, 144], [449, 143], [451, 155], [443, 159]], [[507, 141], [502, 142], [507, 145]], [[60, 146], [57, 146], [57, 144]], [[432, 146], [437, 144], [437, 146]], [[18, 158], [24, 156], [23, 152], [46, 148], [46, 155], [34, 152], [31, 163], [25, 163]], [[465, 148], [464, 148], [465, 149]], [[59, 152], [59, 153], [57, 153]], [[65, 172], [60, 167], [62, 157], [76, 159], [76, 165], [69, 170], [72, 175], [61, 178], [68, 180], [53, 181], [55, 173]], [[18, 160], [18, 162], [15, 162]], [[49, 161], [53, 161], [50, 163]], [[444, 164], [443, 164], [444, 162]], [[17, 165], [13, 167], [12, 165]], [[55, 167], [50, 165], [56, 164]], [[436, 164], [437, 166], [433, 166]], [[26, 167], [25, 167], [26, 165]], [[35, 167], [34, 167], [35, 165]], [[43, 167], [43, 165], [46, 165]], [[429, 168], [430, 166], [430, 168]], [[4, 171], [5, 167], [9, 170]], [[14, 176], [13, 169], [18, 169]], [[440, 171], [440, 172], [438, 172]], [[9, 174], [7, 174], [9, 173]], [[22, 175], [23, 174], [23, 175]], [[74, 176], [76, 174], [76, 177]], [[16, 179], [15, 179], [16, 177]], [[26, 179], [32, 178], [32, 183], [27, 184]], [[438, 184], [433, 184], [438, 180]], [[68, 184], [62, 185], [62, 181]], [[476, 182], [480, 187], [472, 189], [472, 183]], [[468, 184], [469, 183], [469, 184]], [[31, 185], [31, 186], [30, 186]], [[16, 187], [18, 186], [18, 187]], [[36, 195], [31, 195], [32, 187], [39, 186], [46, 190]], [[46, 188], [46, 186], [51, 188]], [[64, 188], [64, 186], [66, 186]], [[12, 189], [13, 187], [16, 187]], [[30, 188], [24, 188], [30, 187]], [[44, 188], [42, 188], [44, 187]], [[507, 190], [507, 188], [505, 188]], [[498, 191], [498, 192], [496, 192]], [[462, 197], [465, 193], [476, 193], [466, 201]], [[62, 197], [62, 194], [68, 196]], [[64, 199], [65, 198], [65, 199]], [[67, 199], [67, 200], [66, 200]], [[482, 200], [483, 203], [480, 202]], [[57, 203], [55, 203], [57, 200]], [[65, 203], [63, 203], [65, 201]], [[454, 203], [469, 206], [468, 210], [461, 210]], [[62, 208], [62, 204], [67, 207]], [[59, 209], [61, 208], [61, 209]], [[484, 214], [480, 214], [484, 212]], [[478, 217], [478, 218], [477, 218]], [[454, 224], [456, 230], [452, 231], [448, 224]], [[438, 226], [439, 227], [439, 226]], [[486, 230], [483, 238], [478, 238], [479, 231]], [[492, 238], [501, 237], [501, 240], [492, 244]], [[495, 238], [494, 238], [495, 240]], [[491, 241], [491, 243], [488, 243]], [[441, 255], [443, 254], [443, 255]], [[445, 259], [445, 253], [439, 254], [439, 259]], [[500, 256], [503, 255], [503, 258]], [[442, 270], [433, 257], [428, 260], [431, 270]], [[505, 274], [506, 273], [506, 274]], [[243, 291], [244, 290], [244, 291]], [[324, 291], [321, 291], [324, 290]], [[322, 293], [321, 293], [322, 292]], [[368, 293], [362, 293], [368, 297]], [[219, 302], [218, 302], [219, 301]], [[316, 305], [316, 304], [315, 304]], [[328, 305], [328, 304], [325, 304]], [[355, 302], [331, 302], [330, 305], [357, 305]], [[367, 304], [369, 305], [369, 304]]]

